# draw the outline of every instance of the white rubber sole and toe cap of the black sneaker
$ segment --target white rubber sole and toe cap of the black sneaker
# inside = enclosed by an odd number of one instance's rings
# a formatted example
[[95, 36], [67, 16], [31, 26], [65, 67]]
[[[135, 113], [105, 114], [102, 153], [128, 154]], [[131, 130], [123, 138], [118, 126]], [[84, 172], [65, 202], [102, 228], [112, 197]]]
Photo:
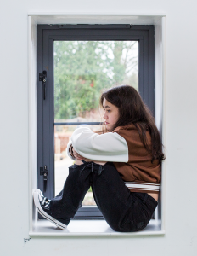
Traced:
[[37, 212], [39, 212], [43, 218], [48, 219], [50, 222], [52, 222], [54, 225], [56, 225], [59, 229], [65, 230], [67, 227], [65, 224], [59, 222], [57, 219], [48, 215], [47, 212], [43, 211], [41, 204], [40, 204], [41, 196], [43, 196], [43, 195], [42, 195], [42, 192], [40, 189], [36, 189], [33, 191], [33, 199], [34, 199], [34, 204], [37, 207]]

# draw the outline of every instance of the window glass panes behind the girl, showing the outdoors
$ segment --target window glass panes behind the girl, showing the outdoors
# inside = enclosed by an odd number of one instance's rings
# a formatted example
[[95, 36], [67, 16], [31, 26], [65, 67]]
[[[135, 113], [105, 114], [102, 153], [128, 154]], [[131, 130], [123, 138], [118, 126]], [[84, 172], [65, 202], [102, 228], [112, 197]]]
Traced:
[[[138, 41], [54, 41], [54, 160], [55, 195], [63, 188], [73, 164], [65, 148], [77, 126], [102, 122], [101, 92], [130, 84], [138, 90]], [[60, 123], [66, 125], [60, 125]], [[94, 125], [98, 125], [97, 123]], [[95, 205], [91, 189], [83, 205]]]

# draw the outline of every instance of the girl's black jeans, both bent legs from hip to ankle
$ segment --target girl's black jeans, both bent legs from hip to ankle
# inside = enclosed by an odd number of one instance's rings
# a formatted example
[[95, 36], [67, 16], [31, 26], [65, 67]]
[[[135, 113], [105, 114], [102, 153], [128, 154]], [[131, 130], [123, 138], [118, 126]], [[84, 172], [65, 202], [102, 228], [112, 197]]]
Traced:
[[115, 231], [143, 230], [157, 206], [150, 195], [130, 192], [112, 163], [100, 166], [87, 162], [69, 168], [63, 190], [51, 201], [53, 218], [64, 219], [69, 224], [90, 186], [99, 210]]

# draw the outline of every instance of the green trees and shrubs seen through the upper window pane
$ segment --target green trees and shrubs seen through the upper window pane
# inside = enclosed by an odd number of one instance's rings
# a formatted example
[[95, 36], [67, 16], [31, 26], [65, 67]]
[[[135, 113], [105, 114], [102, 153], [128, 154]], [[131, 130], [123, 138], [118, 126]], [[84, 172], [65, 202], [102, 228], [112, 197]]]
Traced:
[[98, 108], [101, 91], [111, 86], [138, 89], [136, 52], [138, 42], [55, 41], [54, 118], [85, 117]]

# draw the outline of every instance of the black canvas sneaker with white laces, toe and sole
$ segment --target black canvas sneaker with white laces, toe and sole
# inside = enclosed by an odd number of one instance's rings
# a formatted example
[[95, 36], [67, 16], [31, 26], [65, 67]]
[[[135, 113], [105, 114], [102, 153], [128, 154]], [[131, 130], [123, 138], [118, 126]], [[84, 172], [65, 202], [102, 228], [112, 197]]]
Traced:
[[55, 224], [59, 229], [65, 230], [67, 225], [64, 224], [63, 219], [56, 219], [51, 216], [50, 211], [50, 200], [47, 197], [42, 195], [40, 189], [36, 189], [33, 191], [33, 199], [35, 206], [37, 207], [37, 212], [39, 212], [43, 218], [47, 218], [50, 222]]

